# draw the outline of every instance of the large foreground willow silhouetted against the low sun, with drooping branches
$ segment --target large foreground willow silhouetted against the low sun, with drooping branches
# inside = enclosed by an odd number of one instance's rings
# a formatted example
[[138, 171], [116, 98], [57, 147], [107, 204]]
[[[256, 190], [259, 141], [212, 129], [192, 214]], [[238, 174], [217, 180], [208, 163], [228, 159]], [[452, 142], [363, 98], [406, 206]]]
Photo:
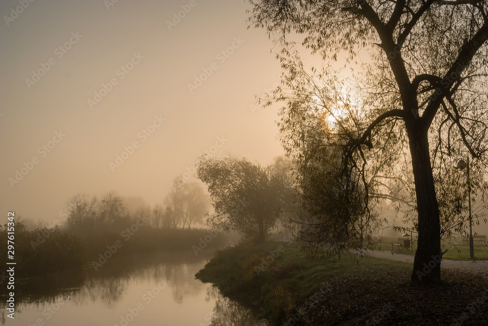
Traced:
[[[434, 175], [454, 150], [486, 164], [487, 1], [250, 2], [251, 24], [264, 28], [283, 49], [278, 55], [283, 83], [273, 97], [287, 101], [281, 127], [289, 153], [300, 159], [296, 153], [306, 140], [300, 125], [310, 109], [320, 107], [327, 119], [338, 118], [325, 144], [341, 148], [341, 182], [353, 185], [339, 191], [347, 197], [347, 192], [362, 190], [369, 207], [377, 186], [372, 176], [387, 175], [407, 148], [418, 213], [411, 279], [439, 281]], [[321, 56], [321, 68], [307, 70], [296, 52], [290, 54], [293, 40], [302, 36], [301, 46]], [[328, 65], [341, 56], [354, 69], [343, 85], [337, 78], [341, 72]], [[344, 117], [347, 123], [341, 122]], [[371, 213], [366, 209], [365, 214]], [[427, 273], [426, 265], [431, 267]]]

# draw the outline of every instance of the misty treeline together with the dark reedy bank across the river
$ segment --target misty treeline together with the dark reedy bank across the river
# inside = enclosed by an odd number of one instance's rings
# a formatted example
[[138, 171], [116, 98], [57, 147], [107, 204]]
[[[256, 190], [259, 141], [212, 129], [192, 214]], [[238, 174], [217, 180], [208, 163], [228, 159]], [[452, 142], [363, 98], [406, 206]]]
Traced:
[[[217, 248], [225, 242], [221, 233], [166, 223], [172, 218], [169, 210], [165, 210], [168, 219], [163, 219], [164, 213], [155, 210], [145, 210], [146, 215], [127, 211], [122, 197], [115, 192], [109, 192], [101, 201], [94, 198], [72, 197], [61, 225], [28, 230], [22, 219], [16, 218], [16, 275], [30, 277], [81, 267], [98, 269], [113, 257], [138, 253], [184, 250], [198, 254], [201, 249]], [[0, 243], [0, 264], [5, 266], [6, 224], [0, 230]]]

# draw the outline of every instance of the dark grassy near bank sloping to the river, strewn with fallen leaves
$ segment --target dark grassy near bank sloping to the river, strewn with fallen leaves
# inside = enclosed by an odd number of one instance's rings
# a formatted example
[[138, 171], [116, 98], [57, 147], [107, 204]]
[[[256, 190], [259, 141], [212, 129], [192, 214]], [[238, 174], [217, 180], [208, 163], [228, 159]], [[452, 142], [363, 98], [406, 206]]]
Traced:
[[442, 284], [417, 288], [411, 271], [377, 258], [308, 260], [266, 242], [218, 251], [196, 276], [271, 325], [486, 325], [487, 280], [443, 269]]

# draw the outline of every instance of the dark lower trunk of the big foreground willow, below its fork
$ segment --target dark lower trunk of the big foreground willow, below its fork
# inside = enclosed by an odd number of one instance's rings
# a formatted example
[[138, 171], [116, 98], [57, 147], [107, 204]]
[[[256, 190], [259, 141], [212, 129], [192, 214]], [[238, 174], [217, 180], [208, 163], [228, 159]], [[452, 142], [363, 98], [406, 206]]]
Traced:
[[[415, 123], [414, 123], [415, 124]], [[418, 244], [413, 262], [413, 283], [432, 284], [441, 280], [441, 227], [439, 205], [430, 163], [427, 128], [407, 126], [412, 156], [418, 211]]]

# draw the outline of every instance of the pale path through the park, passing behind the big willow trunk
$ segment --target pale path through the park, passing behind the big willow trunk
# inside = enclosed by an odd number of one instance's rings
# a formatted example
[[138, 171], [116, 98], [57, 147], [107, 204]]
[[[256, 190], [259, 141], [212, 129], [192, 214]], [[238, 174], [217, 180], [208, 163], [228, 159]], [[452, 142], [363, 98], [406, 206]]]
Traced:
[[[391, 251], [378, 251], [378, 250], [369, 251], [369, 255], [371, 257], [399, 260], [402, 262], [409, 262], [413, 264], [413, 256], [411, 255], [404, 255], [401, 253], [394, 253], [392, 255]], [[485, 278], [488, 278], [487, 260], [479, 260], [476, 262], [472, 262], [468, 260], [460, 261], [460, 260], [443, 259], [441, 262], [441, 268], [462, 270], [462, 271], [478, 274]]]

